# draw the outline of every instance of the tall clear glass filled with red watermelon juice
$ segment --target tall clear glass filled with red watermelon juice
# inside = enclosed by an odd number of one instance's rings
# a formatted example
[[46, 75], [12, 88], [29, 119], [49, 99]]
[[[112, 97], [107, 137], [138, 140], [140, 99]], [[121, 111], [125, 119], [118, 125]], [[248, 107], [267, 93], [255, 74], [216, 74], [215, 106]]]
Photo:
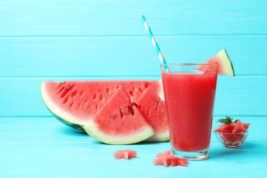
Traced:
[[161, 70], [172, 153], [207, 159], [217, 64], [162, 64]]

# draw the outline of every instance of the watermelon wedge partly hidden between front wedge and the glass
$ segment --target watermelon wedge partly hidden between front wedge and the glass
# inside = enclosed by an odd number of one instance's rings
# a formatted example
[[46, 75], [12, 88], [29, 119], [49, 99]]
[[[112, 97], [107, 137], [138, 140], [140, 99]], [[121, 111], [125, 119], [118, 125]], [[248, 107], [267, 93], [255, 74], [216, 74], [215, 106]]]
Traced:
[[164, 142], [170, 140], [165, 102], [160, 99], [153, 88], [147, 88], [136, 103], [140, 112], [147, 118], [155, 131], [155, 134], [145, 141]]

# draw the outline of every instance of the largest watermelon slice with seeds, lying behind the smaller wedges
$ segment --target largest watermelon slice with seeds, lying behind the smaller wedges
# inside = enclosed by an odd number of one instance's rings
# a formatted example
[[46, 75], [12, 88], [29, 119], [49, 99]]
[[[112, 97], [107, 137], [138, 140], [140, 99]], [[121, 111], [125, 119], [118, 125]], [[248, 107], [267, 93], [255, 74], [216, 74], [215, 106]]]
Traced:
[[151, 86], [163, 98], [161, 80], [153, 81], [43, 81], [42, 99], [55, 118], [75, 129], [83, 130], [108, 99], [123, 86], [131, 101], [137, 101], [144, 90]]

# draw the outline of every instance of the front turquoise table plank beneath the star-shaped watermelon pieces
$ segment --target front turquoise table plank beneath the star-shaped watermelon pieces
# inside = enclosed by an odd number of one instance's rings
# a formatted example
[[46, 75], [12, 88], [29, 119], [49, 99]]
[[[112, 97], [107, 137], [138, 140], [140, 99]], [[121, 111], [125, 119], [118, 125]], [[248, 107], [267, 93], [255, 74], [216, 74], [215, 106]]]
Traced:
[[[112, 147], [103, 144], [5, 144], [1, 145], [1, 177], [266, 177], [266, 142], [247, 142], [244, 147], [227, 149], [211, 144], [209, 159], [190, 162], [186, 168], [154, 166], [156, 154], [167, 144]], [[114, 151], [135, 149], [138, 158], [115, 160]], [[5, 155], [3, 155], [5, 153]], [[257, 164], [248, 164], [257, 159]], [[224, 167], [235, 168], [223, 171]], [[103, 171], [105, 169], [105, 171]], [[147, 171], [149, 169], [149, 171]], [[134, 171], [133, 171], [134, 170]]]

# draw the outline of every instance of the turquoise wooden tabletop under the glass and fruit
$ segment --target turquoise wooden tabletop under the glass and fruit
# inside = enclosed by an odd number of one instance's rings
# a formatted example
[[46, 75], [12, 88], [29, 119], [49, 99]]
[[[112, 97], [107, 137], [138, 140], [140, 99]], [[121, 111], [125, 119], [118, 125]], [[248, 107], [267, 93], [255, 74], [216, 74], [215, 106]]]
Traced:
[[[251, 136], [264, 138], [260, 122], [266, 117], [247, 119], [257, 127]], [[133, 177], [140, 174], [142, 177], [218, 177], [218, 173], [223, 177], [266, 177], [267, 174], [266, 137], [264, 141], [248, 140], [237, 149], [212, 141], [209, 159], [190, 162], [186, 168], [165, 168], [154, 166], [153, 160], [157, 153], [170, 148], [169, 142], [101, 144], [61, 126], [50, 118], [1, 118], [0, 133], [5, 137], [0, 140], [0, 177], [129, 177], [129, 173]], [[113, 153], [118, 149], [136, 150], [138, 157], [115, 160]], [[234, 168], [234, 171], [222, 171], [223, 167]]]

